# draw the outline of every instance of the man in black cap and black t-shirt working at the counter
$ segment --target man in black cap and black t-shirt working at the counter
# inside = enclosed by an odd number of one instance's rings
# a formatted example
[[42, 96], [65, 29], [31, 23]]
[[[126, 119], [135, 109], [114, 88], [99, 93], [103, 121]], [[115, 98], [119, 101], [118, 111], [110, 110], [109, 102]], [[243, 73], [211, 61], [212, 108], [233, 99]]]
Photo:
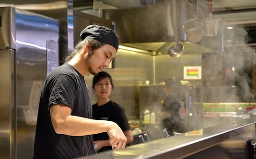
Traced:
[[98, 74], [115, 58], [119, 39], [104, 26], [89, 25], [81, 41], [55, 68], [43, 85], [34, 144], [34, 159], [75, 159], [96, 153], [93, 134], [106, 132], [113, 149], [125, 148], [127, 138], [112, 121], [93, 120], [84, 75]]

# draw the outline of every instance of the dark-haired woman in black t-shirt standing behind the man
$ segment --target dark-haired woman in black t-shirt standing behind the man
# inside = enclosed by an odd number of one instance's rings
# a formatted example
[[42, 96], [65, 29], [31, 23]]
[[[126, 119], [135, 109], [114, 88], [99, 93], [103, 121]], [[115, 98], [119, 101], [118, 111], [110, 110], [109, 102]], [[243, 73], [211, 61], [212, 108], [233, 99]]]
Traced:
[[[93, 77], [93, 90], [97, 96], [97, 103], [93, 105], [93, 119], [110, 120], [123, 130], [127, 143], [133, 141], [125, 110], [122, 106], [109, 99], [114, 85], [110, 74], [99, 72]], [[111, 150], [107, 133], [94, 134], [94, 148], [97, 152]]]

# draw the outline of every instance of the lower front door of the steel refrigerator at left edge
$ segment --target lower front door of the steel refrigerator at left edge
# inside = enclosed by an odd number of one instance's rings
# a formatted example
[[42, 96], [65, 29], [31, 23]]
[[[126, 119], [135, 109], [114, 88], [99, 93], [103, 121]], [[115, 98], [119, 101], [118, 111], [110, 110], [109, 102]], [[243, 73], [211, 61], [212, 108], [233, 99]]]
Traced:
[[[15, 154], [14, 57], [13, 50], [0, 50], [0, 158], [12, 159]], [[3, 69], [4, 68], [4, 69]], [[13, 153], [13, 154], [12, 154]]]

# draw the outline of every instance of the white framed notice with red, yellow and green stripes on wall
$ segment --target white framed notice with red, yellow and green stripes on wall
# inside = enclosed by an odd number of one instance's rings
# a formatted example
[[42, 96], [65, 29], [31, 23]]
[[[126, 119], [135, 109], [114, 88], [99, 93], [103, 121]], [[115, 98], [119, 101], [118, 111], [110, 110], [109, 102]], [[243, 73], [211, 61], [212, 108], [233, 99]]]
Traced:
[[201, 79], [202, 78], [202, 67], [201, 66], [184, 66], [184, 79]]

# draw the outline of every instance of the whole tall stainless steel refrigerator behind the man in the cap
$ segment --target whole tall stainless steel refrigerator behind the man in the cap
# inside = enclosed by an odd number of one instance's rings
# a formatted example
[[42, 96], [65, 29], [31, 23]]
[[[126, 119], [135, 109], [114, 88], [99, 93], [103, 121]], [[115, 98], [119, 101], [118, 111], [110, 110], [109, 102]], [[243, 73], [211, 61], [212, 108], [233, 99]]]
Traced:
[[0, 159], [32, 159], [41, 88], [58, 66], [58, 20], [0, 7]]

